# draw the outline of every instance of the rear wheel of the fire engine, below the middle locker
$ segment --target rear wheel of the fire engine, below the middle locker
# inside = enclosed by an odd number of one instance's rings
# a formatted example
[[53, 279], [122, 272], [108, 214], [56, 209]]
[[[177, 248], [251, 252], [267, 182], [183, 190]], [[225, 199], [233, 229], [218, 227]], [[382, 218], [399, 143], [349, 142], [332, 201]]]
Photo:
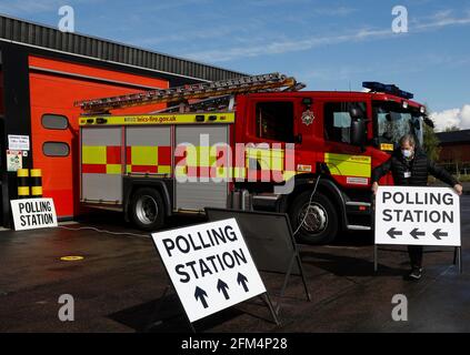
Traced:
[[130, 215], [136, 225], [146, 231], [154, 231], [163, 226], [164, 205], [158, 191], [139, 189], [132, 196]]

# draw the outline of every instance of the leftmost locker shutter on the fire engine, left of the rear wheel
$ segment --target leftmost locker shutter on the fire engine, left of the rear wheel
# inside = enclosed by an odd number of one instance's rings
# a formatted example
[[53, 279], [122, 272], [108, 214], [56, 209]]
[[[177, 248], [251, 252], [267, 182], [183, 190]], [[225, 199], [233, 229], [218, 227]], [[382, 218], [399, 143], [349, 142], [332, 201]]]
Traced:
[[121, 128], [83, 128], [81, 144], [81, 199], [121, 204]]

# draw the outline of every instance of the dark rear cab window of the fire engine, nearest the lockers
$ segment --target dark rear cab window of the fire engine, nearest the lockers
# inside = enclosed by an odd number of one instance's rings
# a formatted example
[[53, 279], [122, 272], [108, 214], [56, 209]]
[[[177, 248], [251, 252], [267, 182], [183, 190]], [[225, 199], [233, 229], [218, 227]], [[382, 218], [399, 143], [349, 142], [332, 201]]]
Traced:
[[293, 142], [293, 103], [257, 103], [257, 136], [260, 139]]

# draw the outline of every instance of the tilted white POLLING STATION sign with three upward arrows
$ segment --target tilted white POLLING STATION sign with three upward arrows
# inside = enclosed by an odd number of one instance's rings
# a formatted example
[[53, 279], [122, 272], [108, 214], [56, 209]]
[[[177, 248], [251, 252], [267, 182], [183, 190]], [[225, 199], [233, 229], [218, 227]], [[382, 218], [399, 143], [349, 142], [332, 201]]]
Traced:
[[152, 237], [191, 323], [266, 293], [234, 219]]

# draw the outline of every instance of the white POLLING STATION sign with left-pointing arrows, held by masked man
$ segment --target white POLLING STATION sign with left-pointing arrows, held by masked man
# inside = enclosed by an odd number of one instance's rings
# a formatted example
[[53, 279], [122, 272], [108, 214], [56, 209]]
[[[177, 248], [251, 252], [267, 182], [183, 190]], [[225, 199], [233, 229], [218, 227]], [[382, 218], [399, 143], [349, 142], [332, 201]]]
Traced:
[[376, 244], [461, 246], [460, 199], [449, 187], [380, 186]]

